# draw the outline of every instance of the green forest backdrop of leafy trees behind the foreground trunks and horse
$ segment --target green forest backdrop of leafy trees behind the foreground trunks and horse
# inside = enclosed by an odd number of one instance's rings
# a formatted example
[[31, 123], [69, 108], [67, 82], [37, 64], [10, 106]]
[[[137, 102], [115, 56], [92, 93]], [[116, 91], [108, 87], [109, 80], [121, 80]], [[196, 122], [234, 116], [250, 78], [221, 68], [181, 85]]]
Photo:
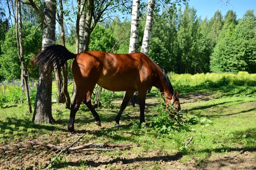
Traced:
[[[20, 79], [15, 28], [3, 7], [4, 4], [1, 3], [0, 80]], [[65, 11], [66, 46], [75, 53], [76, 26], [72, 17], [72, 5], [66, 2], [66, 7], [70, 9]], [[138, 51], [142, 44], [146, 17], [146, 8], [142, 5], [140, 9]], [[41, 21], [31, 6], [22, 5], [22, 12], [26, 73], [30, 78], [36, 79], [38, 67], [31, 58], [41, 49]], [[253, 10], [246, 11], [240, 19], [237, 19], [233, 10], [226, 14], [216, 11], [208, 19], [198, 17], [196, 9], [188, 3], [184, 10], [175, 4], [157, 4], [154, 13], [148, 56], [166, 71], [177, 74], [238, 71], [256, 73], [256, 15]], [[89, 50], [128, 53], [130, 19], [120, 18], [117, 14], [107, 14], [105, 17], [91, 34]], [[56, 43], [61, 44], [59, 29], [56, 29]], [[72, 78], [70, 70], [68, 76]]]

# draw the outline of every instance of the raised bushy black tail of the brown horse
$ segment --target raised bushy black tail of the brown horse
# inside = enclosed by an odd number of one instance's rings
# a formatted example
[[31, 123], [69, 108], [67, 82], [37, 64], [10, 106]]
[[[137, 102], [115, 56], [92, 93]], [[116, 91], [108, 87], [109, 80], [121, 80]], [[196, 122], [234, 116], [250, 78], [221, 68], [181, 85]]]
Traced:
[[41, 67], [57, 65], [60, 68], [67, 60], [73, 58], [76, 58], [76, 54], [71, 53], [64, 46], [50, 45], [36, 55], [34, 62]]

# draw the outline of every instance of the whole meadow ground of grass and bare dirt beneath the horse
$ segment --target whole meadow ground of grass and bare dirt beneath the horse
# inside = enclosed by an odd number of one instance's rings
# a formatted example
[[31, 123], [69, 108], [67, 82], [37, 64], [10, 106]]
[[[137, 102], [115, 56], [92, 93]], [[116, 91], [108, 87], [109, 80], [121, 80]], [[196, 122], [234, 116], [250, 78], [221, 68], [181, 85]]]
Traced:
[[[38, 140], [66, 147], [85, 134], [79, 144], [130, 144], [129, 150], [63, 153], [49, 169], [253, 169], [256, 168], [256, 74], [247, 72], [172, 74], [178, 89], [183, 118], [170, 120], [163, 98], [156, 88], [147, 95], [145, 118], [139, 120], [139, 107], [128, 106], [114, 127], [123, 92], [102, 92], [97, 108], [102, 126], [82, 104], [76, 114], [77, 136], [70, 137], [67, 123], [70, 110], [52, 102], [55, 125], [35, 125], [26, 112], [25, 96], [20, 101], [18, 81], [0, 84], [0, 151], [3, 146]], [[70, 85], [69, 92], [72, 92]], [[56, 91], [53, 82], [52, 93]], [[36, 82], [30, 82], [32, 104]], [[52, 99], [56, 94], [52, 95]], [[54, 100], [53, 100], [54, 101]], [[191, 141], [189, 142], [189, 139]], [[57, 155], [46, 147], [3, 151], [0, 169], [42, 169]]]

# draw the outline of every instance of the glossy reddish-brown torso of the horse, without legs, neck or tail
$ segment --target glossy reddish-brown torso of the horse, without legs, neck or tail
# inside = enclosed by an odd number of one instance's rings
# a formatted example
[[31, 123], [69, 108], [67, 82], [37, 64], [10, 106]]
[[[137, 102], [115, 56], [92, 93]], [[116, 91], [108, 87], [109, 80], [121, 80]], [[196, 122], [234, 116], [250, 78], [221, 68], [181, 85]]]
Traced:
[[[72, 70], [80, 72], [81, 77], [87, 77], [93, 81], [97, 79], [98, 85], [111, 91], [137, 91], [143, 86], [150, 88], [151, 75], [157, 69], [147, 55], [139, 52], [113, 54], [88, 51], [78, 54], [74, 62], [77, 62], [79, 69], [72, 68]], [[73, 71], [73, 74], [76, 73]]]

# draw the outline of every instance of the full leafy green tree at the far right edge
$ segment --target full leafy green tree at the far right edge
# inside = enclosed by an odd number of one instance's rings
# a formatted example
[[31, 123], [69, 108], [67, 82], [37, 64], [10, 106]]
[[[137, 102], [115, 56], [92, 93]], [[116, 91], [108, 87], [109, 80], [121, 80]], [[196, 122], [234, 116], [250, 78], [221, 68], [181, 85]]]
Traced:
[[[229, 25], [228, 25], [229, 24]], [[254, 51], [254, 52], [253, 52]], [[227, 22], [211, 58], [213, 72], [256, 72], [256, 16], [246, 12], [238, 25]]]

